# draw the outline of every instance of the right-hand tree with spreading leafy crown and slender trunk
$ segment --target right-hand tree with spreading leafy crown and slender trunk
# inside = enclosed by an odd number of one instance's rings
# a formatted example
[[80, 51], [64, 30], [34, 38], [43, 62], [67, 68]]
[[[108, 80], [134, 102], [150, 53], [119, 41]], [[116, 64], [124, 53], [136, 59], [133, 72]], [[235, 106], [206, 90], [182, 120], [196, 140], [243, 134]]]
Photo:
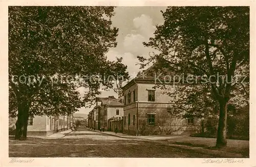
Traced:
[[216, 146], [225, 147], [227, 105], [233, 91], [243, 87], [232, 79], [238, 71], [249, 74], [249, 7], [168, 7], [161, 12], [163, 25], [157, 26], [154, 38], [144, 42], [161, 53], [149, 59], [138, 57], [142, 67], [154, 62], [157, 69], [175, 70], [176, 75], [185, 79], [192, 76], [192, 84], [191, 80], [179, 82], [179, 86], [175, 85], [179, 90], [169, 94], [175, 94], [174, 102], [183, 100], [194, 105], [199, 114], [204, 110], [200, 104], [207, 107], [207, 103], [216, 103]]

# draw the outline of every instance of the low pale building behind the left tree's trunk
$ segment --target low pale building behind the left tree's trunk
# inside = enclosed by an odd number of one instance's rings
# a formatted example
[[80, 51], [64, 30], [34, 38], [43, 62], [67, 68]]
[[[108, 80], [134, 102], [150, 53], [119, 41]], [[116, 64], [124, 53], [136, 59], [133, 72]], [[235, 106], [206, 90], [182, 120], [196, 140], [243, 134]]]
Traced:
[[[28, 136], [48, 136], [53, 133], [69, 130], [73, 127], [73, 115], [69, 116], [30, 116], [28, 119]], [[15, 133], [16, 118], [9, 118], [9, 133]]]

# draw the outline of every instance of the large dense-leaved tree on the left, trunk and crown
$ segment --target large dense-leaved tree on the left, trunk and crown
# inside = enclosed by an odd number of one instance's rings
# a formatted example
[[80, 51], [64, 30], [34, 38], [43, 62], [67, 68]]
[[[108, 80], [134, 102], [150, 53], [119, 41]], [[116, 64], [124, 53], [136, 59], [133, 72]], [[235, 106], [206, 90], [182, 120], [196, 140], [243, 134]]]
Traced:
[[[90, 106], [98, 89], [128, 76], [116, 46], [114, 7], [9, 7], [9, 114], [16, 139], [26, 139], [31, 115], [69, 115]], [[114, 77], [112, 77], [114, 76]], [[80, 98], [79, 87], [87, 91]]]

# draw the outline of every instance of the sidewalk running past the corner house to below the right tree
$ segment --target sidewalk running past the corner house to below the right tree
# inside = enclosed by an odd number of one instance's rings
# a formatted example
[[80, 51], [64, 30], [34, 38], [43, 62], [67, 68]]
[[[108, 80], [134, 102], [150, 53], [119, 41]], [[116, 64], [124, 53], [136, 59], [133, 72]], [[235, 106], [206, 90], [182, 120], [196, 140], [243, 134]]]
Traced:
[[[91, 130], [91, 129], [89, 129]], [[156, 142], [169, 142], [169, 145], [174, 147], [185, 147], [187, 149], [200, 150], [202, 152], [212, 154], [223, 154], [236, 157], [249, 157], [249, 141], [248, 140], [233, 140], [227, 139], [227, 147], [223, 149], [214, 148], [216, 145], [216, 138], [204, 138], [204, 137], [190, 137], [188, 135], [165, 135], [165, 136], [131, 136], [122, 133], [114, 132], [100, 132], [98, 130], [92, 130], [99, 133], [109, 134], [112, 136], [122, 138], [133, 138], [141, 140], [151, 140]]]

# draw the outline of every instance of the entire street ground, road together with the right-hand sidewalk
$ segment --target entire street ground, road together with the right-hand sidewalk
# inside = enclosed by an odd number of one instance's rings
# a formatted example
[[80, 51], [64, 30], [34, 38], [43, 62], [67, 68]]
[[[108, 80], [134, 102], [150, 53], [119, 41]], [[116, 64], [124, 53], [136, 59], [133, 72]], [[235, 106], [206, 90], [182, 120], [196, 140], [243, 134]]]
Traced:
[[[215, 139], [188, 136], [128, 136], [89, 129], [64, 131], [48, 137], [29, 137], [26, 144], [9, 139], [10, 157], [248, 157], [249, 142], [230, 140], [224, 150], [213, 150]], [[191, 140], [195, 140], [192, 141]], [[198, 141], [197, 141], [198, 140]], [[203, 142], [202, 142], [203, 141]]]

